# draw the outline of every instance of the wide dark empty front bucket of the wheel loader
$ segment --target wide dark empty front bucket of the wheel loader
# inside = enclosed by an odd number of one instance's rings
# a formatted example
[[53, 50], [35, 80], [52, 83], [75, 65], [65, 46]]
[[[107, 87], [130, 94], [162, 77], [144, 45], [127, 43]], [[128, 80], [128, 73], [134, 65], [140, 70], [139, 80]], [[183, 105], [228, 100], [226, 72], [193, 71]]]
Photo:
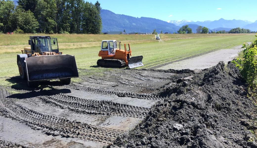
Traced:
[[71, 55], [31, 56], [25, 60], [29, 82], [78, 77], [75, 57]]

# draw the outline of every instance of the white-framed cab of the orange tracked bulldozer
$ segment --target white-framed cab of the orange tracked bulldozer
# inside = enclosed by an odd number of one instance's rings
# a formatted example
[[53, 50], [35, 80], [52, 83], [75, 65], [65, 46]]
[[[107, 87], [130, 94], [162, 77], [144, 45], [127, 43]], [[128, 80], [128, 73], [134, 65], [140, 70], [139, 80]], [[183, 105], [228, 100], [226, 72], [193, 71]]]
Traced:
[[117, 50], [117, 42], [118, 41], [116, 40], [103, 40], [101, 51], [108, 51], [108, 55], [115, 55], [115, 51]]

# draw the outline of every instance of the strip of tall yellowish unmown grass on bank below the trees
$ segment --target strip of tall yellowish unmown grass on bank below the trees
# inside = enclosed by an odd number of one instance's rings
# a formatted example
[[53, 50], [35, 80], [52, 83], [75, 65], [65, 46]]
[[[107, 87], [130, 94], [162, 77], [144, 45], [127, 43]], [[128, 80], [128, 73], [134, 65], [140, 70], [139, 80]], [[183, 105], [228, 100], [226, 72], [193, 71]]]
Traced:
[[[58, 38], [58, 43], [85, 43], [85, 42], [100, 42], [102, 40], [119, 40], [119, 41], [136, 41], [136, 40], [152, 40], [154, 35], [126, 35], [126, 34], [1, 34], [0, 33], [0, 46], [5, 45], [27, 45], [29, 36], [43, 35], [53, 36]], [[238, 34], [161, 34], [161, 39], [175, 39], [187, 37], [209, 37], [209, 36], [231, 36]], [[242, 34], [240, 34], [242, 35]], [[153, 40], [155, 41], [155, 40]]]

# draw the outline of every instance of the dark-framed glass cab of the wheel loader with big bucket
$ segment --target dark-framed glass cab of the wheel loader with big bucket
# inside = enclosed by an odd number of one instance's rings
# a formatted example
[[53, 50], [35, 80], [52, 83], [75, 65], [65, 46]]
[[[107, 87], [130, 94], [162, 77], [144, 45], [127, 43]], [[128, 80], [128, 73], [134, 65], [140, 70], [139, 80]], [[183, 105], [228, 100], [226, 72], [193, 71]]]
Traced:
[[58, 53], [57, 38], [50, 36], [30, 36], [29, 45], [31, 46], [31, 53], [55, 52]]

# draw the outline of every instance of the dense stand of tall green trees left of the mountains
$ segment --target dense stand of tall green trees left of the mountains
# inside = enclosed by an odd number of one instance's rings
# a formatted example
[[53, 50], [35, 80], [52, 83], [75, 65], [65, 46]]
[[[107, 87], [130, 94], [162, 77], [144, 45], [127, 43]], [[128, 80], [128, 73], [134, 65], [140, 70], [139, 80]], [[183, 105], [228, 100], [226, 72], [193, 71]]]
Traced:
[[100, 3], [84, 0], [0, 0], [0, 33], [100, 34]]

